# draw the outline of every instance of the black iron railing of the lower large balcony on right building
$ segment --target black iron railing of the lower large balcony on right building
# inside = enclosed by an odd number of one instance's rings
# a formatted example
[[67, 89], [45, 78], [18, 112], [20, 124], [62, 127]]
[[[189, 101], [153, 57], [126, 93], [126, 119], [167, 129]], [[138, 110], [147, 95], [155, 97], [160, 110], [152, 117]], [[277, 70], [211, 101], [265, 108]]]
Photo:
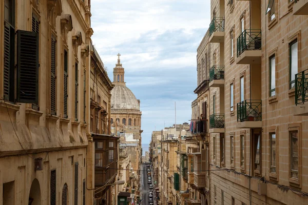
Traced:
[[246, 99], [237, 104], [237, 120], [238, 121], [261, 121], [261, 100]]

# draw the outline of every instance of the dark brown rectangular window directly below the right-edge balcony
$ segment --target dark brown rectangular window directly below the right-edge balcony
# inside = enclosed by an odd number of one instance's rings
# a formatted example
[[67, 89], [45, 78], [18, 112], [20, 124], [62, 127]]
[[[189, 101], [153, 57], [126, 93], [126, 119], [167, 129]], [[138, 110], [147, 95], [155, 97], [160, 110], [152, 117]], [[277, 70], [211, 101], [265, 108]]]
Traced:
[[298, 131], [290, 131], [291, 178], [298, 179]]

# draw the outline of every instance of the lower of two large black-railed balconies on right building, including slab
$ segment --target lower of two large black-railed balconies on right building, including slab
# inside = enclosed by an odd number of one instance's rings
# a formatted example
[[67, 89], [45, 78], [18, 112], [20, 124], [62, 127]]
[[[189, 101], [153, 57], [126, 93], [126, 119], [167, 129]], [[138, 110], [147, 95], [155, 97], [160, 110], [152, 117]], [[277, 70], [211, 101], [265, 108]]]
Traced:
[[262, 103], [260, 99], [246, 99], [237, 104], [237, 128], [262, 127]]

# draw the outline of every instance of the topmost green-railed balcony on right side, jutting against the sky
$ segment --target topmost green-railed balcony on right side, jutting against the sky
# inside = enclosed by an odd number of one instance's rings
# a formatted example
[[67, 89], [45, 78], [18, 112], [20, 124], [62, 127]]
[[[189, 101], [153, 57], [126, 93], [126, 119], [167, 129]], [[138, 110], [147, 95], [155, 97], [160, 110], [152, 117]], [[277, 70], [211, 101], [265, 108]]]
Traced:
[[224, 42], [224, 17], [213, 18], [213, 20], [209, 24], [209, 42]]

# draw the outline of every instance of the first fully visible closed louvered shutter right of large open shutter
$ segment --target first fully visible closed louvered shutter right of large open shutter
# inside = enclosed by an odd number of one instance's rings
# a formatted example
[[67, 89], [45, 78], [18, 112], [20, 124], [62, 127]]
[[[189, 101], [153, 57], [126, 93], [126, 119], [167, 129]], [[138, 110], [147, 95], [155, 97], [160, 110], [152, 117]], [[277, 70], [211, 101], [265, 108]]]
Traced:
[[51, 77], [50, 77], [50, 114], [56, 115], [55, 89], [56, 89], [56, 39], [51, 36]]

